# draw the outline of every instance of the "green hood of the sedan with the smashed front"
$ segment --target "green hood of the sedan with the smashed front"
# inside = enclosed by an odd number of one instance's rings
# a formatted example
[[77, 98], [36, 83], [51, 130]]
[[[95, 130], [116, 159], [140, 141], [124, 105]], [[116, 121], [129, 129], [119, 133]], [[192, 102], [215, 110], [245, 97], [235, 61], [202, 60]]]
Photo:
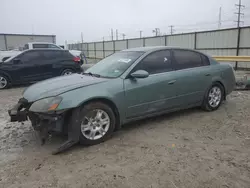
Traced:
[[57, 96], [70, 90], [101, 83], [106, 80], [107, 79], [105, 78], [85, 76], [81, 74], [59, 76], [31, 85], [23, 92], [23, 97], [29, 102], [34, 102], [42, 98]]

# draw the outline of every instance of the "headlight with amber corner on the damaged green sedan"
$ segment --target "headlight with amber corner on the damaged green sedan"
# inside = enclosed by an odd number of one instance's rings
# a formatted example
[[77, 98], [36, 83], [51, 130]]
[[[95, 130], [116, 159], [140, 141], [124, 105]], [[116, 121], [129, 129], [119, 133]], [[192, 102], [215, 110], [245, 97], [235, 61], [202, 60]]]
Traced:
[[31, 107], [30, 111], [32, 112], [49, 112], [56, 110], [59, 106], [60, 102], [62, 101], [62, 97], [49, 97], [45, 99], [38, 100], [34, 102]]

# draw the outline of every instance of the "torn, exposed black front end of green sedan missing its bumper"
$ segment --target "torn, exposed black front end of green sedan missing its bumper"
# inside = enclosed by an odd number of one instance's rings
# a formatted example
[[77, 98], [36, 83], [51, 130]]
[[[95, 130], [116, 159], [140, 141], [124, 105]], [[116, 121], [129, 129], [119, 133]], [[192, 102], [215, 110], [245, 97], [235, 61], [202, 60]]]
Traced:
[[[8, 111], [11, 122], [30, 120], [32, 127], [39, 136], [41, 145], [45, 144], [50, 135], [59, 133], [68, 136], [68, 140], [60, 145], [53, 154], [58, 154], [79, 142], [78, 122], [74, 121], [78, 109], [51, 111], [49, 113], [30, 111], [32, 103], [21, 98], [18, 103]], [[73, 114], [74, 112], [74, 114]]]

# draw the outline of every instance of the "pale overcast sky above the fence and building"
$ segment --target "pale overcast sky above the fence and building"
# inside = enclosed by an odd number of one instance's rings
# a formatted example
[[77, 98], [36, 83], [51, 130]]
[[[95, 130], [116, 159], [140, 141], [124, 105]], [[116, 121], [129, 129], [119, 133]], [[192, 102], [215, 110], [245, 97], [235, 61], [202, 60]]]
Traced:
[[[235, 26], [238, 0], [0, 0], [0, 33], [55, 34], [57, 43], [110, 39], [111, 28], [127, 37]], [[242, 0], [250, 25], [250, 0]]]

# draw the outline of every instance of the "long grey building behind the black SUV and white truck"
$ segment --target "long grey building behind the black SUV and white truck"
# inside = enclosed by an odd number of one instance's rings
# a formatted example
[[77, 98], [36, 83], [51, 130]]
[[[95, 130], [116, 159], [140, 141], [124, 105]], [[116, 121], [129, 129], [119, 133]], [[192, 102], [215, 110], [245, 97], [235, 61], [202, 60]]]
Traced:
[[28, 42], [56, 43], [56, 36], [0, 33], [0, 50], [20, 49]]

